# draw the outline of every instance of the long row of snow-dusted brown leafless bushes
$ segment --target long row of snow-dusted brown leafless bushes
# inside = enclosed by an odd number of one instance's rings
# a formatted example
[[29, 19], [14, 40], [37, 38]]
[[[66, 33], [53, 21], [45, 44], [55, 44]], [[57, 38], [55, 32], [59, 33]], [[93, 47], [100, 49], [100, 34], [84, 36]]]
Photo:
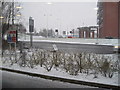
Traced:
[[[11, 53], [11, 54], [10, 54]], [[119, 70], [118, 60], [113, 60], [113, 56], [86, 52], [62, 52], [48, 51], [42, 49], [24, 50], [23, 53], [6, 50], [3, 53], [3, 64], [18, 64], [20, 67], [34, 68], [40, 66], [47, 71], [52, 68], [65, 70], [70, 75], [79, 73], [93, 74], [97, 78], [98, 74], [112, 78], [114, 72]]]

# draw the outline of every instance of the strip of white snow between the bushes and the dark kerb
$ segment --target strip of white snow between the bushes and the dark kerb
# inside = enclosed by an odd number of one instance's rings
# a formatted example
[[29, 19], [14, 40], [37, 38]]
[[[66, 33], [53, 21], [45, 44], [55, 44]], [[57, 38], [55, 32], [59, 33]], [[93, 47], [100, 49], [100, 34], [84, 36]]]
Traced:
[[96, 82], [96, 83], [102, 83], [102, 84], [109, 84], [109, 85], [120, 85], [118, 82], [118, 73], [115, 73], [115, 75], [112, 78], [104, 77], [101, 75], [98, 75], [98, 78], [94, 78], [93, 74], [84, 74], [79, 73], [77, 76], [72, 76], [66, 73], [62, 69], [55, 69], [53, 68], [50, 72], [46, 71], [45, 68], [36, 66], [35, 68], [29, 68], [29, 67], [20, 67], [17, 64], [14, 64], [12, 66], [8, 64], [3, 64], [0, 67], [10, 68], [14, 70], [20, 70], [20, 71], [26, 71], [26, 72], [32, 72], [37, 74], [43, 74], [43, 75], [49, 75], [49, 76], [55, 76], [55, 77], [62, 77], [67, 79], [74, 79], [74, 80], [80, 80], [80, 81], [88, 81], [88, 82]]

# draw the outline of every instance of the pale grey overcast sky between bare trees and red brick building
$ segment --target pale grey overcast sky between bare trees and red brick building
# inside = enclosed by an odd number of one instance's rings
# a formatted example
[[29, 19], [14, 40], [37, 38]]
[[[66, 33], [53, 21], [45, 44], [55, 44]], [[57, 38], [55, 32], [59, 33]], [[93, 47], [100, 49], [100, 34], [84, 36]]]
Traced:
[[22, 17], [28, 29], [28, 19], [32, 16], [35, 20], [37, 32], [43, 28], [70, 31], [80, 26], [96, 25], [96, 2], [23, 2]]

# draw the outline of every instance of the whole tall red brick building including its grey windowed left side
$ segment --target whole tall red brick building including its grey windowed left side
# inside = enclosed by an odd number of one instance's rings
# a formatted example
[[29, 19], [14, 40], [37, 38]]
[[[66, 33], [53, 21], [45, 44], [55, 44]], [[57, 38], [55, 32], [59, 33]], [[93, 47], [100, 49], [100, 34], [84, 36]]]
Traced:
[[99, 38], [120, 38], [120, 2], [98, 2]]

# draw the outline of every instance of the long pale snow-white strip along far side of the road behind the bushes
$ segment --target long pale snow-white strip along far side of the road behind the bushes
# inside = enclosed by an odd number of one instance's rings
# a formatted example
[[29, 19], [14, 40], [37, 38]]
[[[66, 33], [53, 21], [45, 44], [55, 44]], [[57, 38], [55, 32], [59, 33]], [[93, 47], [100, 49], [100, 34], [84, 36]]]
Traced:
[[[21, 40], [30, 40], [29, 36], [22, 37]], [[61, 42], [72, 42], [72, 43], [98, 43], [107, 45], [118, 45], [118, 39], [85, 39], [85, 38], [41, 38], [40, 36], [33, 36], [34, 41], [46, 40], [46, 41], [61, 41]]]

